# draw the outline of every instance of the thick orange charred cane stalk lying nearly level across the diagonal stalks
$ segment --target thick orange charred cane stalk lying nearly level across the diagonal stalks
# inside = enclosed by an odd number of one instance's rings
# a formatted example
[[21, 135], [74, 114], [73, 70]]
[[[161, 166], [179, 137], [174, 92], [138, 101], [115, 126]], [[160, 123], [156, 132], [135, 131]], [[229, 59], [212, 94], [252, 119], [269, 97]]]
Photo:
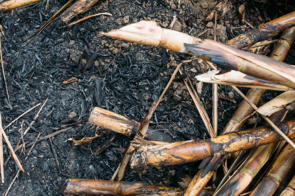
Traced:
[[[295, 120], [277, 124], [287, 137], [295, 138]], [[132, 169], [166, 166], [201, 160], [207, 157], [245, 150], [283, 140], [270, 127], [258, 127], [224, 134], [206, 140], [188, 140], [165, 145], [142, 146], [131, 157]]]

